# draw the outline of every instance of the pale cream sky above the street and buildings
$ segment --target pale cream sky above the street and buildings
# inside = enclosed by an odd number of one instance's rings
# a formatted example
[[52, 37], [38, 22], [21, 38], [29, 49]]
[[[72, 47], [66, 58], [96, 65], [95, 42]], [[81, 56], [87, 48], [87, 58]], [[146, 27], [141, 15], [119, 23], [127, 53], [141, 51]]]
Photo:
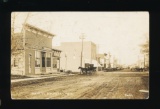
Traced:
[[[13, 15], [13, 13], [12, 13]], [[27, 12], [16, 12], [19, 32]], [[99, 53], [110, 53], [122, 64], [133, 64], [140, 56], [140, 44], [149, 39], [148, 12], [30, 12], [27, 23], [55, 34], [53, 47], [61, 42], [84, 41], [97, 44]]]

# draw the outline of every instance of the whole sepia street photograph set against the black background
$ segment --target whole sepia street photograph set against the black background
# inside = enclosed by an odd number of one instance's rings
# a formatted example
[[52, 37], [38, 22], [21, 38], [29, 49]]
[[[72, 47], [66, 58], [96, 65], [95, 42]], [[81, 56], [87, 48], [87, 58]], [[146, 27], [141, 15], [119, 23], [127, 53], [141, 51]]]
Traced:
[[149, 99], [149, 12], [12, 12], [11, 99]]

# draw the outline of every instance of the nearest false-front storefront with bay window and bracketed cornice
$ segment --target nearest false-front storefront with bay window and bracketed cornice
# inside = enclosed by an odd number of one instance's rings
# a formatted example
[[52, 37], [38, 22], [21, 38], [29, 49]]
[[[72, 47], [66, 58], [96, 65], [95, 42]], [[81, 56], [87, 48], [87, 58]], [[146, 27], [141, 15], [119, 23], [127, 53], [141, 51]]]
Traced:
[[[16, 35], [15, 35], [16, 36]], [[60, 50], [52, 49], [54, 34], [29, 24], [24, 25], [23, 33], [17, 34], [18, 55], [11, 56], [11, 74], [33, 75], [57, 72]], [[14, 41], [11, 43], [13, 44]]]

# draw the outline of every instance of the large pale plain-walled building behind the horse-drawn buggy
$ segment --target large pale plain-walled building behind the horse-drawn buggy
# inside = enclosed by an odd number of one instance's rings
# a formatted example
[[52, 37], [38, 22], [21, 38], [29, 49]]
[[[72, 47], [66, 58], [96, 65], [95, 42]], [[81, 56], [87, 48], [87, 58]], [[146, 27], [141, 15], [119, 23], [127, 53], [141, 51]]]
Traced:
[[[82, 42], [62, 42], [56, 48], [62, 50], [60, 68], [79, 72], [78, 67], [81, 66]], [[96, 44], [91, 41], [83, 42], [82, 67], [85, 67], [88, 63], [94, 64], [95, 67], [100, 66], [96, 56]]]

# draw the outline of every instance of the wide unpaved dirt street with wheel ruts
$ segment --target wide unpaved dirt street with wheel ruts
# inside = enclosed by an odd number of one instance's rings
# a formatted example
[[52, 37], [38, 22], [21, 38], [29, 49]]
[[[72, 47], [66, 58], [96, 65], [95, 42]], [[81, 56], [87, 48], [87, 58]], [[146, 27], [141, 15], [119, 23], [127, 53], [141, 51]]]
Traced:
[[147, 99], [146, 72], [96, 72], [12, 86], [13, 99]]

